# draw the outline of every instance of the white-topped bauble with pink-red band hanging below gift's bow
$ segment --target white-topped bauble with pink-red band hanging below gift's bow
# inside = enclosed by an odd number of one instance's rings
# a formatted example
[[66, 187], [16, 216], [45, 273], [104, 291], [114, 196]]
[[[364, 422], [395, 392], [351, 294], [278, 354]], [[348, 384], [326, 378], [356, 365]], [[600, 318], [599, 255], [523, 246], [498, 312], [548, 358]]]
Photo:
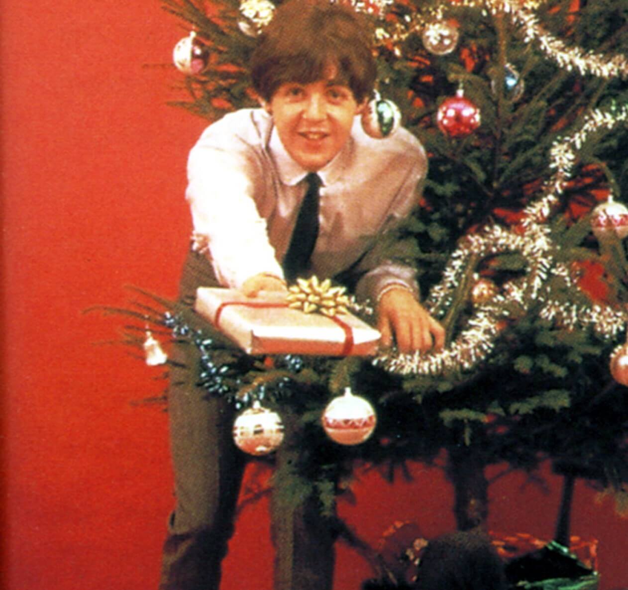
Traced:
[[323, 428], [327, 436], [339, 444], [360, 444], [375, 429], [377, 418], [373, 407], [363, 397], [353, 395], [349, 387], [345, 394], [333, 399], [323, 412]]

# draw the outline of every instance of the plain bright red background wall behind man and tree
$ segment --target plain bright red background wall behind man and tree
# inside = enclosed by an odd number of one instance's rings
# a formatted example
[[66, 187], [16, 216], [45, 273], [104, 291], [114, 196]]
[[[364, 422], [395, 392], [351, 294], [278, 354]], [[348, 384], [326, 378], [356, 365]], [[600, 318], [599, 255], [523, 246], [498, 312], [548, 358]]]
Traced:
[[[204, 122], [166, 106], [171, 49], [187, 31], [158, 1], [3, 3], [4, 587], [156, 587], [171, 507], [166, 416], [129, 402], [158, 372], [116, 346], [115, 322], [82, 310], [126, 305], [122, 286], [175, 294], [187, 247], [185, 159]], [[152, 64], [152, 65], [151, 65]], [[342, 512], [376, 542], [393, 520], [451, 528], [435, 469], [413, 483], [376, 475]], [[6, 475], [6, 473], [5, 473]], [[492, 488], [491, 527], [550, 537], [558, 480]], [[600, 540], [602, 589], [628, 585], [626, 522], [581, 483], [573, 532]], [[266, 503], [244, 508], [225, 590], [271, 588]], [[369, 576], [339, 549], [336, 590]]]

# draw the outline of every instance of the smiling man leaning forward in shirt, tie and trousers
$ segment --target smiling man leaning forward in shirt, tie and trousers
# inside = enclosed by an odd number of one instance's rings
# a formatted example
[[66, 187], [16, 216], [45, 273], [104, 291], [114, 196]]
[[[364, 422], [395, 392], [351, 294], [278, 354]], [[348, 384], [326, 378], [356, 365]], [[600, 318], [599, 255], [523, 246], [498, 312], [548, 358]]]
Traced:
[[[190, 153], [195, 251], [181, 281], [184, 303], [201, 285], [254, 296], [316, 274], [374, 302], [384, 346], [443, 345], [443, 329], [418, 303], [413, 269], [374, 254], [381, 233], [418, 202], [427, 165], [404, 129], [380, 140], [360, 128], [376, 76], [371, 44], [351, 8], [292, 0], [276, 10], [251, 62], [262, 108], [226, 115]], [[245, 463], [231, 437], [232, 408], [195, 387], [193, 348], [179, 346], [173, 359], [176, 508], [161, 590], [219, 587]], [[290, 416], [284, 422], [289, 438]], [[278, 463], [290, 460], [279, 449]], [[317, 498], [283, 508], [273, 500], [275, 589], [330, 590], [334, 539]]]

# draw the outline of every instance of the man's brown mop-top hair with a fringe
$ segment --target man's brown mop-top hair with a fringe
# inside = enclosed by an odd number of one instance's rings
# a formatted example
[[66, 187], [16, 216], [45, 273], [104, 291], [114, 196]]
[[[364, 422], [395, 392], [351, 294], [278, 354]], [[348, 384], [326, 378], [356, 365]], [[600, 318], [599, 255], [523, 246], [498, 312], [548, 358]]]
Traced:
[[253, 87], [269, 101], [283, 83], [316, 82], [330, 66], [357, 102], [371, 94], [377, 72], [364, 16], [329, 0], [289, 0], [276, 9], [254, 50]]

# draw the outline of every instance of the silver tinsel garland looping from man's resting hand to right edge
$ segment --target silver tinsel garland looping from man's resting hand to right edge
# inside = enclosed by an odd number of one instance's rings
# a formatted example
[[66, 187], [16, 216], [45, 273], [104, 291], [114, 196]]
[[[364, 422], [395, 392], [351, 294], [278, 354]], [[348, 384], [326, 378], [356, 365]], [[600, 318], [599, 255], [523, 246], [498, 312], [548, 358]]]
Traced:
[[[467, 326], [443, 350], [411, 354], [385, 353], [375, 363], [399, 375], [442, 375], [452, 370], [468, 371], [484, 361], [494, 350], [504, 322], [513, 319], [512, 310], [521, 317], [534, 306], [540, 318], [553, 321], [567, 330], [592, 328], [600, 338], [614, 339], [625, 330], [628, 313], [601, 304], [560, 303], [551, 298], [548, 279], [560, 277], [565, 286], [578, 289], [565, 264], [557, 262], [558, 245], [546, 225], [560, 203], [560, 195], [573, 173], [580, 149], [587, 137], [600, 129], [610, 130], [628, 121], [628, 107], [615, 112], [595, 110], [578, 131], [556, 141], [551, 149], [549, 169], [555, 171], [544, 185], [541, 196], [524, 210], [523, 232], [500, 226], [467, 235], [460, 240], [443, 272], [443, 278], [430, 291], [425, 305], [436, 318], [442, 318], [452, 306], [455, 291], [470, 271], [472, 260], [497, 254], [519, 252], [528, 261], [528, 272], [519, 282], [507, 284], [504, 293], [480, 305]], [[472, 270], [472, 269], [471, 269]]]

